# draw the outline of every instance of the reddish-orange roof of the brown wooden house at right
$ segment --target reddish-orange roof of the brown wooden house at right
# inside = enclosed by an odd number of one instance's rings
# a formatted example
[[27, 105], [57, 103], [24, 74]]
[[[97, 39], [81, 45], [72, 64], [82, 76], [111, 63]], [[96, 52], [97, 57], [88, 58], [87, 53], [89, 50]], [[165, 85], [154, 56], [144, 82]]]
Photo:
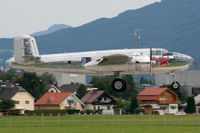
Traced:
[[146, 88], [138, 96], [158, 96], [166, 90], [167, 88]]

